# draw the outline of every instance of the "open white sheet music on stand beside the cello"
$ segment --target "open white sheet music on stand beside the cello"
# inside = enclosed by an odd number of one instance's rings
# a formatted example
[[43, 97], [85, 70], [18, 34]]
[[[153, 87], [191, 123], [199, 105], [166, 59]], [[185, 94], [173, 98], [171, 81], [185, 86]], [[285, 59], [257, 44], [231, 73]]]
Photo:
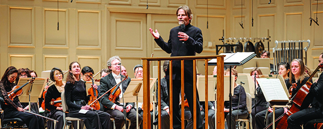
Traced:
[[279, 79], [257, 78], [257, 81], [265, 95], [267, 102], [272, 100], [289, 100]]

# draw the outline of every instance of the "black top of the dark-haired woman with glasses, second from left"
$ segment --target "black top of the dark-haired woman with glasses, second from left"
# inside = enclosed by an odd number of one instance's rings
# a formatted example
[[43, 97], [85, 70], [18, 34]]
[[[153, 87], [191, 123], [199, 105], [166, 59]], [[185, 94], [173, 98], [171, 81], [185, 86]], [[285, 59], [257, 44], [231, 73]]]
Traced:
[[48, 87], [45, 95], [45, 108], [48, 110], [55, 110], [57, 107], [50, 104], [51, 99], [59, 98], [61, 93], [57, 90], [55, 84]]

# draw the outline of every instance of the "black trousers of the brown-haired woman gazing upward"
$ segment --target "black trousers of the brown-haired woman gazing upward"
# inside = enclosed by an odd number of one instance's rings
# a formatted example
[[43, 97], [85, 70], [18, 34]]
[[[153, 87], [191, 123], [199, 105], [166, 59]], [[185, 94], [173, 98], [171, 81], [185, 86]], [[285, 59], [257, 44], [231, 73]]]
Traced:
[[79, 109], [69, 109], [69, 116], [82, 119], [87, 129], [111, 129], [110, 115], [99, 110], [78, 113]]

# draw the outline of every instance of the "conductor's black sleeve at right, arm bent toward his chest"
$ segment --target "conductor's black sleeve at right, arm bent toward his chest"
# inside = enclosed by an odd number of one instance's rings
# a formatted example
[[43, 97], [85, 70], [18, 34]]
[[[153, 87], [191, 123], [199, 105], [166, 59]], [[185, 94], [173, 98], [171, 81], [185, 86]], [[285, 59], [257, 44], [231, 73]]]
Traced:
[[194, 49], [194, 51], [198, 54], [203, 51], [203, 36], [201, 29], [197, 29], [194, 37], [189, 37], [185, 42], [188, 46]]

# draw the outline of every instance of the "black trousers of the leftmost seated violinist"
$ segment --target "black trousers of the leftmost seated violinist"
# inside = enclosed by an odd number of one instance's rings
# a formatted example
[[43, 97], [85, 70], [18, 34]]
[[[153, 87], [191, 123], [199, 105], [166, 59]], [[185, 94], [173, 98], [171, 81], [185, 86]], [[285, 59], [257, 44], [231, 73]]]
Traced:
[[8, 110], [3, 112], [3, 115], [4, 119], [20, 118], [28, 126], [28, 129], [45, 129], [44, 121], [41, 117], [25, 112], [19, 112], [17, 110]]

